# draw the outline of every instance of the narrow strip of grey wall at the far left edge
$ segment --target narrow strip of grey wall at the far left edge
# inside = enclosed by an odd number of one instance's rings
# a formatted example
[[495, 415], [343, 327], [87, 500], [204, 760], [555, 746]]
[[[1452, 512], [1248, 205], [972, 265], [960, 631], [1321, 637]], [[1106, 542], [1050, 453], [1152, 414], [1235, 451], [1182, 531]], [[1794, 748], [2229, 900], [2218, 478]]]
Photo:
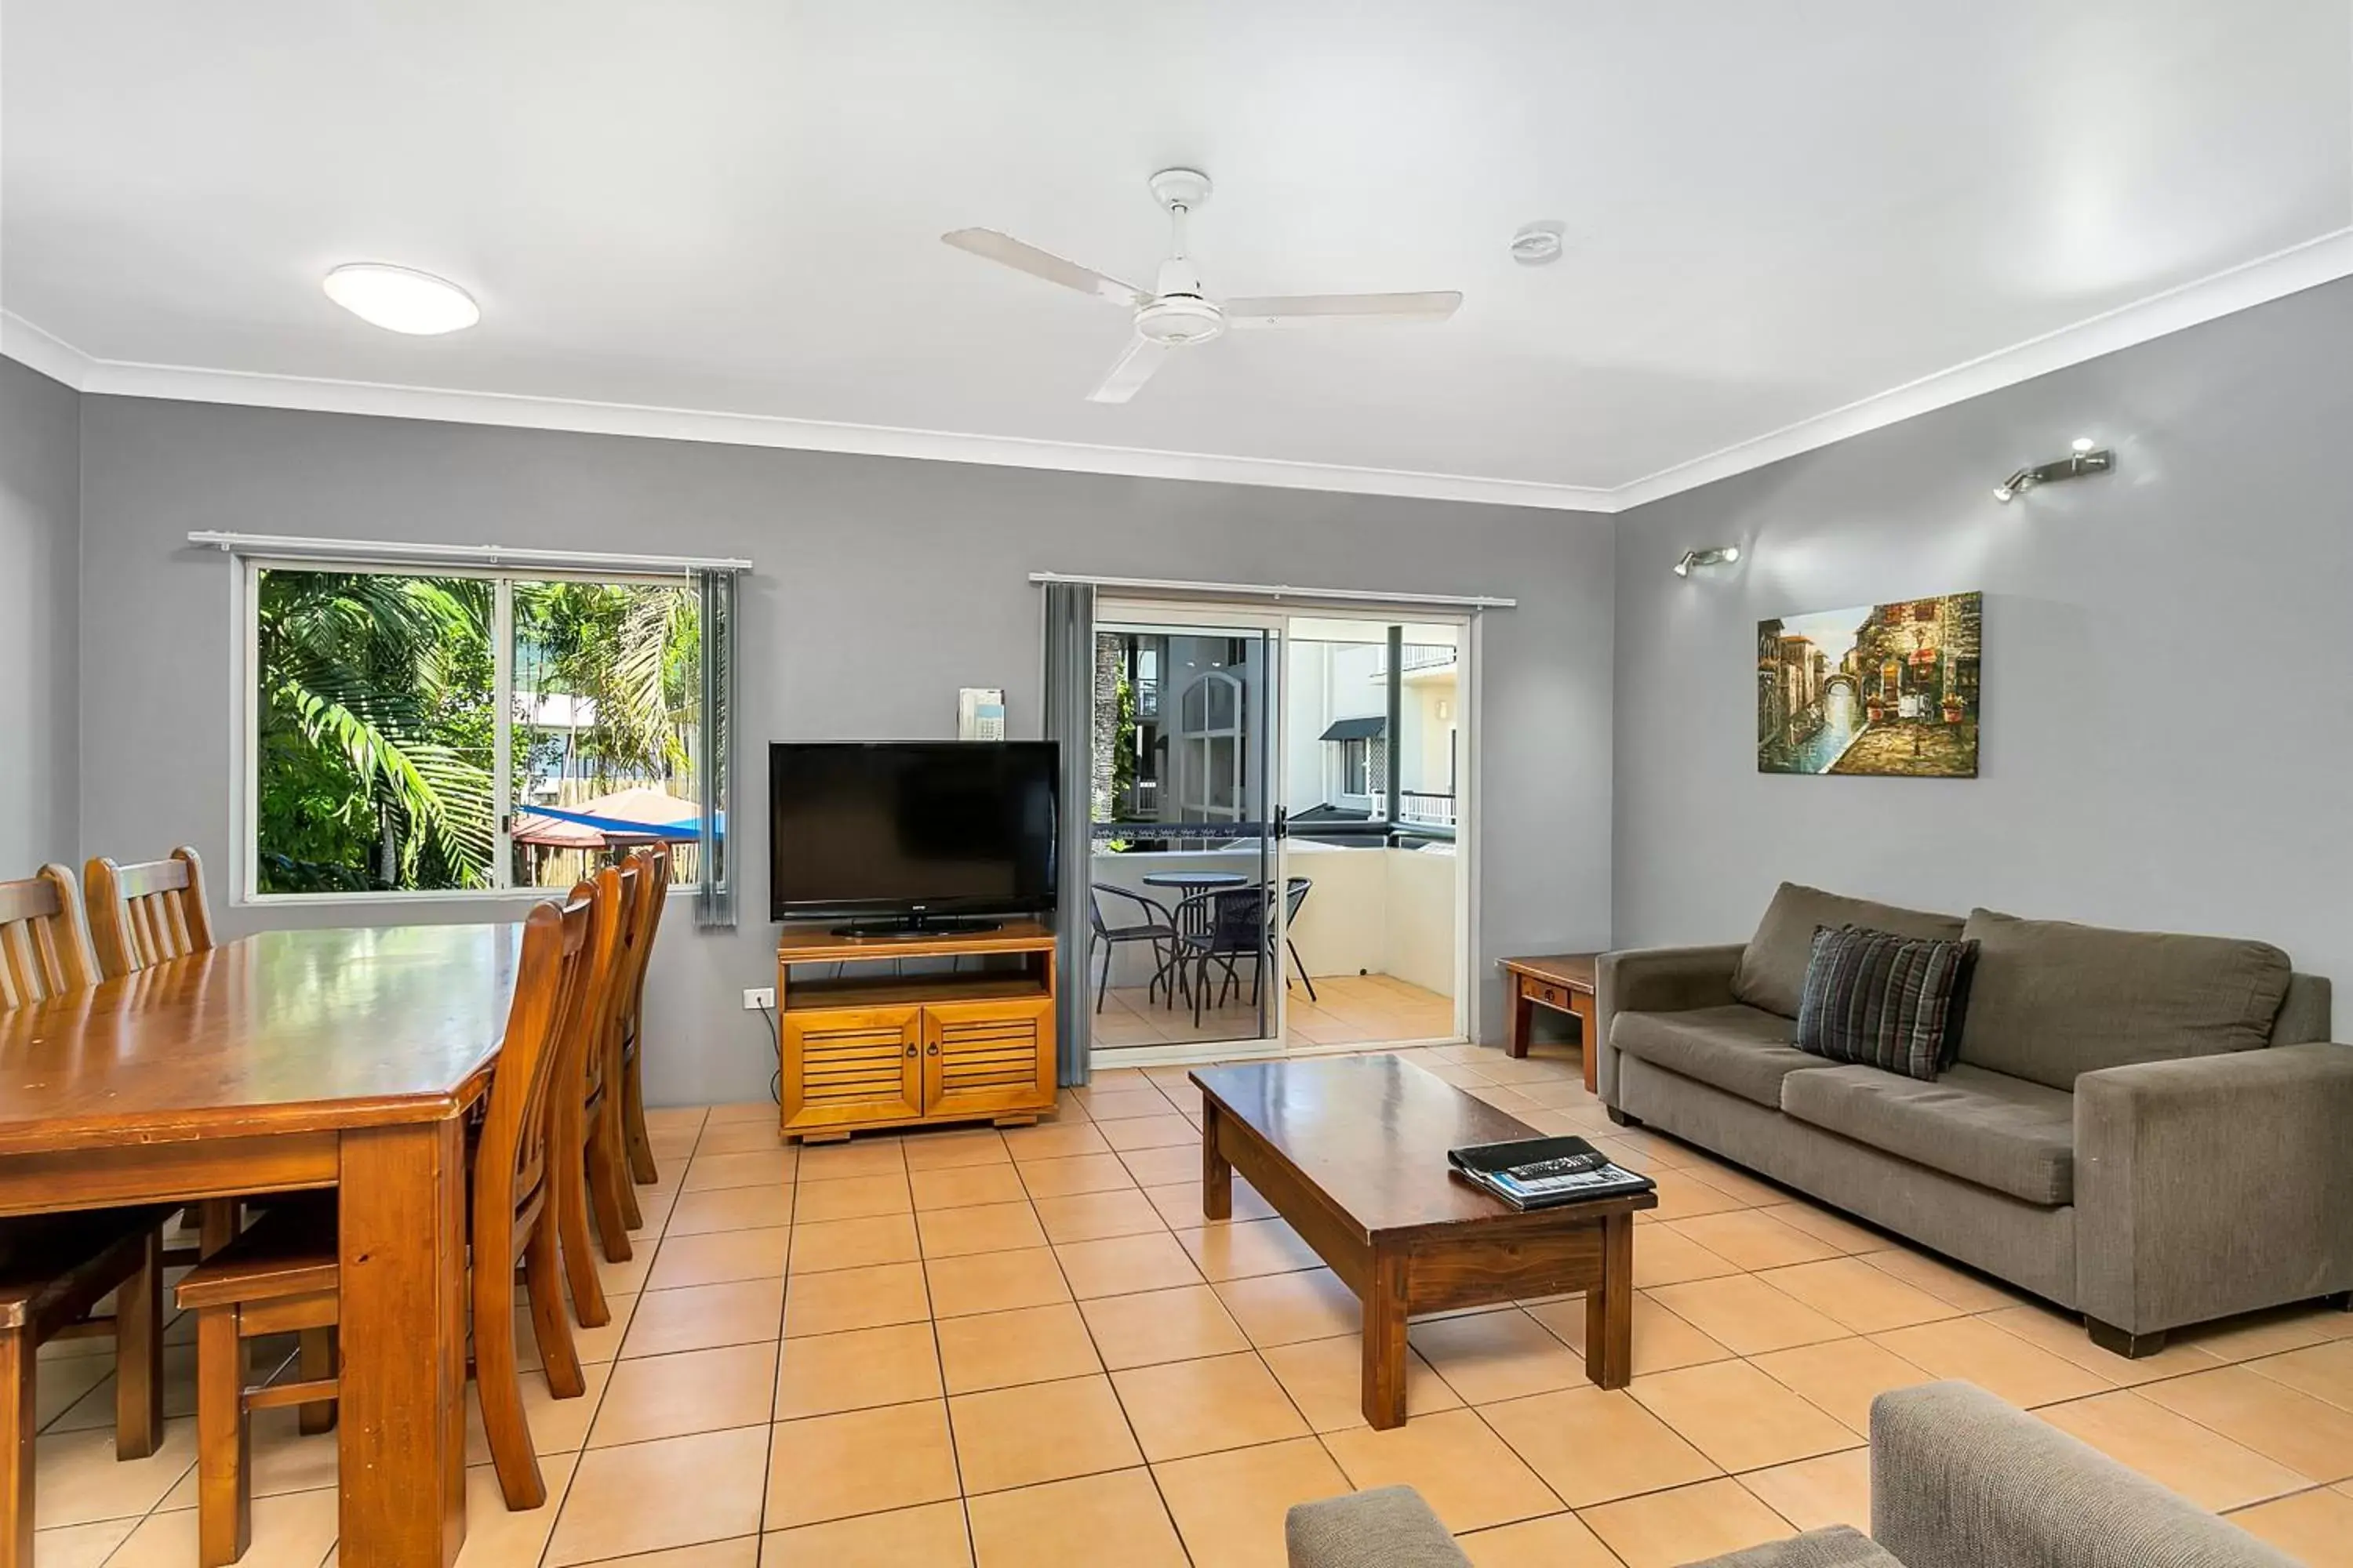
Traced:
[[0, 360], [0, 877], [75, 863], [80, 395]]

